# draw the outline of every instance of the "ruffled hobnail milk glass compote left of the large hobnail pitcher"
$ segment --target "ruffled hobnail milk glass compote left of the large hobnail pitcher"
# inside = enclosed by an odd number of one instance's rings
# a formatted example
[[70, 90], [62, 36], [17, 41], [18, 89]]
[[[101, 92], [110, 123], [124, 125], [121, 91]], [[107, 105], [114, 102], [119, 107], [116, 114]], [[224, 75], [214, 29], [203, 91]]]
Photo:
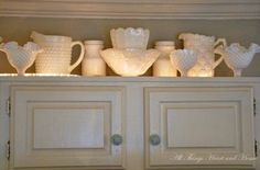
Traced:
[[17, 42], [2, 44], [0, 50], [7, 54], [8, 60], [15, 68], [19, 76], [23, 76], [25, 70], [33, 65], [36, 55], [42, 52], [39, 45], [28, 42], [23, 46], [19, 46]]

